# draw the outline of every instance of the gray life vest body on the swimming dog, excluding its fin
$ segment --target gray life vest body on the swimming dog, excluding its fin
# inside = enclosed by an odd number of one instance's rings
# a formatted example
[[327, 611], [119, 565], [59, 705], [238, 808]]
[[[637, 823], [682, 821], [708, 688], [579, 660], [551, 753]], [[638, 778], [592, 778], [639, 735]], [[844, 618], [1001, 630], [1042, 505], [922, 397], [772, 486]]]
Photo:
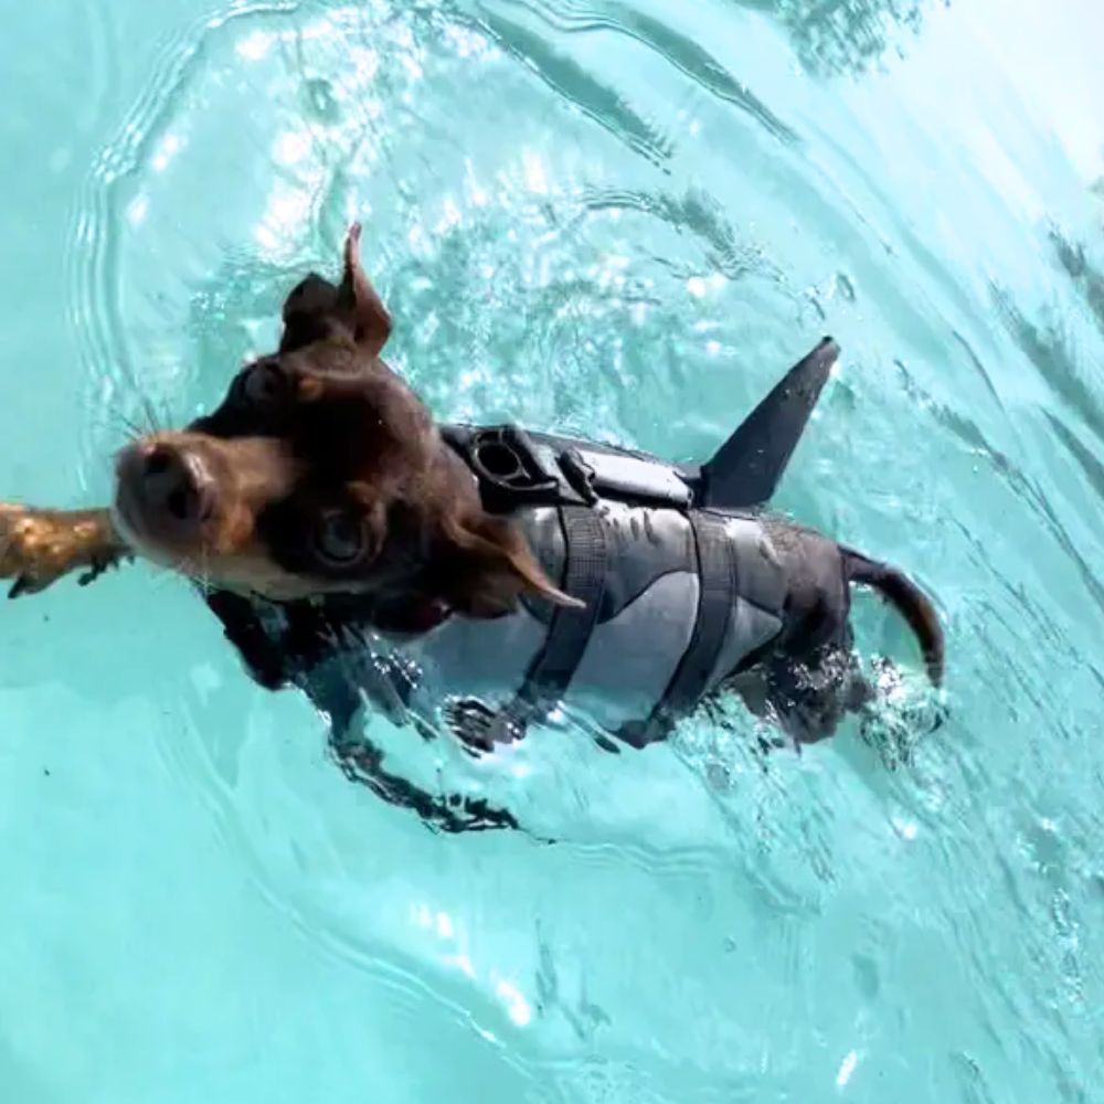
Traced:
[[514, 519], [583, 608], [523, 601], [410, 638], [351, 627], [302, 672], [316, 700], [355, 687], [395, 723], [444, 720], [484, 745], [566, 705], [641, 746], [777, 635], [785, 581], [762, 522], [694, 508], [690, 469], [512, 427], [445, 433], [485, 506]]

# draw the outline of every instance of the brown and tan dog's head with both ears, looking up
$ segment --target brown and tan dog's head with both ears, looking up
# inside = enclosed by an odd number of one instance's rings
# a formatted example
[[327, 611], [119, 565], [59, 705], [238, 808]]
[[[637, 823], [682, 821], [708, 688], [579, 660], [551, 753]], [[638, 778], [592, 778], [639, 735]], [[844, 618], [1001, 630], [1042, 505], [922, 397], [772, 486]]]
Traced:
[[346, 243], [339, 285], [308, 276], [279, 350], [221, 405], [118, 456], [115, 516], [141, 555], [274, 601], [363, 594], [470, 616], [523, 593], [571, 603], [380, 359], [391, 319]]

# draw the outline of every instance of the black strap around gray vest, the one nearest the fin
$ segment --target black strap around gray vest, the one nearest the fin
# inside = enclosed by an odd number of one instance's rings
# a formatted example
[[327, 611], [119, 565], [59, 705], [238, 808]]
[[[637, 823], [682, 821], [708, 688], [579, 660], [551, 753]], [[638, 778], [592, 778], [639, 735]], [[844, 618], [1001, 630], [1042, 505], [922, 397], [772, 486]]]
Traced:
[[709, 513], [690, 514], [698, 559], [698, 614], [690, 646], [679, 661], [651, 715], [622, 726], [618, 735], [634, 747], [665, 739], [676, 719], [690, 712], [709, 688], [724, 647], [729, 619], [739, 593], [736, 558], [724, 521]]

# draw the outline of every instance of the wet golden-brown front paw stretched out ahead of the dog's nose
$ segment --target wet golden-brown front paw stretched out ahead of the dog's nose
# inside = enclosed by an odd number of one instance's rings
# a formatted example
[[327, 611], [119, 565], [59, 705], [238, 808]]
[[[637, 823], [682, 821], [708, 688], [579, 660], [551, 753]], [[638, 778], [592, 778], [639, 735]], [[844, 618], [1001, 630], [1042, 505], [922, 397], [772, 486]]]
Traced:
[[0, 503], [0, 578], [9, 597], [44, 591], [82, 572], [82, 586], [131, 556], [107, 510], [39, 510]]

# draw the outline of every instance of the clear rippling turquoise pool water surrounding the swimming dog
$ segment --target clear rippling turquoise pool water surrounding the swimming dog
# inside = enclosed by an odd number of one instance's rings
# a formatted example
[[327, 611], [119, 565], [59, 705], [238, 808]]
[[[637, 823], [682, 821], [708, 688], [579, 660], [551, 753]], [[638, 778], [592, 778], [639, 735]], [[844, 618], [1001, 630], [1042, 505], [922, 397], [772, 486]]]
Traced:
[[[3, 611], [0, 1098], [1104, 1100], [1104, 94], [1089, 0], [23, 6], [7, 497], [102, 500], [343, 224], [440, 415], [708, 455], [822, 332], [779, 505], [905, 566], [905, 687], [763, 772], [699, 725], [438, 838], [136, 567]], [[868, 652], [904, 631], [860, 604]], [[909, 753], [905, 755], [905, 753]], [[900, 762], [905, 755], [905, 762]]]

